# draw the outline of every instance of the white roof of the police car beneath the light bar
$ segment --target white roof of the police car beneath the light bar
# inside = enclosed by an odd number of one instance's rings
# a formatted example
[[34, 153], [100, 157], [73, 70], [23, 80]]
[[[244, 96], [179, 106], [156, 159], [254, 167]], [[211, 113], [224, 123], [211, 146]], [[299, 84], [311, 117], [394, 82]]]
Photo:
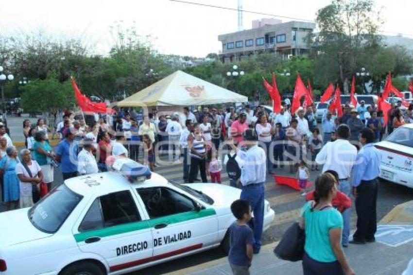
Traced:
[[152, 172], [150, 179], [139, 183], [130, 183], [121, 172], [103, 172], [67, 179], [65, 185], [84, 197], [99, 197], [118, 190], [128, 189], [131, 185], [137, 188], [146, 188], [169, 186], [169, 183], [166, 178], [154, 172]]

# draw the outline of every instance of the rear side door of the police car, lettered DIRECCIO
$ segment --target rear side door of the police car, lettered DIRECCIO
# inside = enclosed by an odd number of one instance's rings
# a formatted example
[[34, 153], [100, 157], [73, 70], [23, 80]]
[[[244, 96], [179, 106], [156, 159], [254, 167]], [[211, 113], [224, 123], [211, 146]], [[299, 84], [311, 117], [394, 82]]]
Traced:
[[73, 229], [83, 252], [99, 254], [110, 272], [152, 260], [152, 232], [130, 190], [96, 198]]

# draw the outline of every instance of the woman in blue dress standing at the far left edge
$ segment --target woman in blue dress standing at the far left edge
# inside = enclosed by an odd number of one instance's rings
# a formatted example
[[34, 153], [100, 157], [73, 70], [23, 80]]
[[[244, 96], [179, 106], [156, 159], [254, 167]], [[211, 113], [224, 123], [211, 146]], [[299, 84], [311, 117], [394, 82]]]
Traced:
[[7, 147], [6, 154], [7, 156], [0, 160], [0, 170], [3, 173], [4, 202], [6, 203], [6, 209], [11, 210], [12, 205], [14, 209], [17, 209], [20, 197], [20, 182], [16, 174], [16, 164], [18, 162], [16, 147]]

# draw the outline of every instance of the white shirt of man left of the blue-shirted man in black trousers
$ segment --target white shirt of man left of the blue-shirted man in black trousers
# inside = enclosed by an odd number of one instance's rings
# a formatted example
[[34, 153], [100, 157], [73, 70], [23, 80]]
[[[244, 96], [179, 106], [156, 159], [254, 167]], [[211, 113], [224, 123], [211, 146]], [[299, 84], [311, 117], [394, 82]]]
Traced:
[[315, 157], [318, 164], [323, 165], [323, 173], [327, 170], [336, 171], [339, 179], [347, 179], [357, 157], [357, 149], [348, 140], [337, 139], [327, 142]]

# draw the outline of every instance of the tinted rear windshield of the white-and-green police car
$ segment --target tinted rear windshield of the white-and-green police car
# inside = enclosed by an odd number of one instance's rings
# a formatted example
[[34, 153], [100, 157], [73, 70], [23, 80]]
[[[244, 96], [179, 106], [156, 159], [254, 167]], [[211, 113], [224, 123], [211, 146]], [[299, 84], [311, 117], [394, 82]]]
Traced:
[[40, 231], [55, 233], [82, 198], [62, 184], [29, 210], [29, 220]]

